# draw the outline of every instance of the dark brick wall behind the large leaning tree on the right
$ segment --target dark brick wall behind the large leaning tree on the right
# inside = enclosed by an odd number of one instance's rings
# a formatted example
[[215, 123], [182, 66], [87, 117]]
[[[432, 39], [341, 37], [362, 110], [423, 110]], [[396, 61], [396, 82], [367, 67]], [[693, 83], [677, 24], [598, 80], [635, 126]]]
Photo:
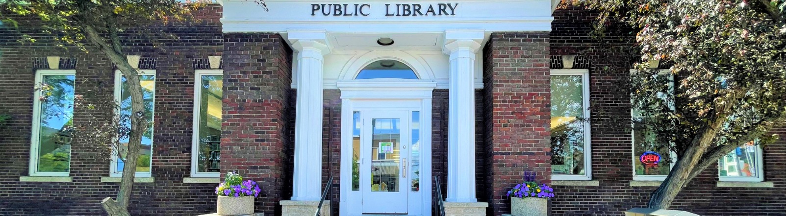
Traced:
[[[602, 45], [589, 37], [593, 13], [581, 8], [558, 9], [553, 13], [550, 32], [552, 55], [575, 54], [590, 61], [591, 160], [593, 180], [599, 186], [554, 186], [552, 214], [623, 214], [633, 207], [645, 207], [656, 187], [631, 187], [633, 166], [631, 134], [626, 126], [609, 119], [630, 117], [627, 93], [626, 50], [632, 35], [626, 29], [612, 29]], [[604, 70], [604, 68], [610, 68]], [[785, 128], [764, 153], [765, 181], [774, 188], [719, 188], [718, 168], [712, 166], [697, 176], [678, 195], [672, 208], [700, 215], [784, 215], [785, 214]]]

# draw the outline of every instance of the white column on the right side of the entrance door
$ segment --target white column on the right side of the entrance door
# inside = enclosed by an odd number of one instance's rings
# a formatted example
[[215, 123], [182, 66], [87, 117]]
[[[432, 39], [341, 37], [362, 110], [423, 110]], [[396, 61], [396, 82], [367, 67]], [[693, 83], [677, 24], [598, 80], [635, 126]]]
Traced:
[[[480, 38], [479, 38], [480, 37]], [[482, 31], [447, 32], [449, 54], [448, 197], [475, 203], [475, 53]]]

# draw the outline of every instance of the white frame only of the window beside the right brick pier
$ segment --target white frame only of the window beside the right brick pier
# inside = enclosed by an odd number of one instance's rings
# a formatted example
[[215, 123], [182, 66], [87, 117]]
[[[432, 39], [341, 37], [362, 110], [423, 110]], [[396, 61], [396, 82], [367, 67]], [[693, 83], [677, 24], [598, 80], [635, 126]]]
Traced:
[[[591, 158], [593, 148], [590, 143], [590, 71], [588, 69], [552, 69], [550, 72], [550, 79], [552, 75], [582, 75], [582, 115], [586, 119], [585, 122], [585, 174], [552, 174], [552, 180], [566, 180], [566, 181], [590, 181], [593, 180], [593, 158]], [[551, 91], [551, 90], [550, 90]], [[550, 143], [549, 148], [552, 148]], [[551, 170], [552, 167], [550, 166]]]

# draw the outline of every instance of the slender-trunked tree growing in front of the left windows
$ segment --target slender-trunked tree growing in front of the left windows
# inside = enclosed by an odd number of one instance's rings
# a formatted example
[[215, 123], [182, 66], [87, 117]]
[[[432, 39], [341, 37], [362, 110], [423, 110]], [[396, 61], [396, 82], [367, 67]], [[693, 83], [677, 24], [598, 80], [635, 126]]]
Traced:
[[[149, 27], [168, 21], [187, 21], [191, 12], [201, 6], [200, 2], [183, 4], [175, 0], [8, 0], [0, 1], [0, 8], [8, 14], [0, 13], [0, 18], [6, 24], [18, 25], [13, 16], [34, 16], [40, 19], [40, 27], [52, 34], [59, 46], [76, 47], [85, 52], [98, 50], [104, 53], [113, 62], [127, 79], [127, 91], [131, 97], [131, 115], [128, 118], [130, 128], [128, 131], [114, 130], [116, 134], [127, 134], [127, 153], [117, 153], [120, 160], [124, 161], [123, 177], [116, 200], [107, 197], [102, 201], [102, 206], [110, 215], [129, 215], [127, 211], [131, 191], [133, 189], [136, 166], [139, 161], [139, 148], [142, 135], [152, 126], [145, 118], [145, 104], [142, 100], [142, 86], [139, 80], [139, 71], [131, 67], [125, 59], [123, 44], [120, 42], [120, 33], [128, 28]], [[139, 32], [138, 32], [139, 33]], [[155, 35], [155, 34], [151, 34]], [[35, 42], [29, 36], [24, 39]], [[109, 100], [108, 103], [112, 100]], [[86, 104], [87, 106], [91, 106]], [[116, 107], [114, 105], [113, 107]], [[114, 114], [114, 109], [109, 109], [108, 115]], [[110, 117], [114, 118], [114, 117]], [[85, 130], [101, 132], [102, 125], [111, 123], [119, 126], [122, 120], [107, 121], [95, 126], [86, 126]], [[116, 149], [117, 137], [105, 136], [102, 145]], [[106, 134], [105, 134], [106, 135]], [[79, 135], [77, 135], [79, 136]], [[86, 136], [87, 137], [87, 136]], [[113, 145], [115, 144], [115, 145]], [[109, 150], [111, 152], [111, 150]]]

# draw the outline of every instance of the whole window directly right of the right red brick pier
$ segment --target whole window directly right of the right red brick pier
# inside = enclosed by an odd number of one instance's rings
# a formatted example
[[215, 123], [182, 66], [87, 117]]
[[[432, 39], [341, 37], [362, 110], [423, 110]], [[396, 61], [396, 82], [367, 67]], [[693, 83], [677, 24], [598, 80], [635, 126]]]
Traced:
[[552, 70], [552, 179], [590, 180], [588, 70]]

